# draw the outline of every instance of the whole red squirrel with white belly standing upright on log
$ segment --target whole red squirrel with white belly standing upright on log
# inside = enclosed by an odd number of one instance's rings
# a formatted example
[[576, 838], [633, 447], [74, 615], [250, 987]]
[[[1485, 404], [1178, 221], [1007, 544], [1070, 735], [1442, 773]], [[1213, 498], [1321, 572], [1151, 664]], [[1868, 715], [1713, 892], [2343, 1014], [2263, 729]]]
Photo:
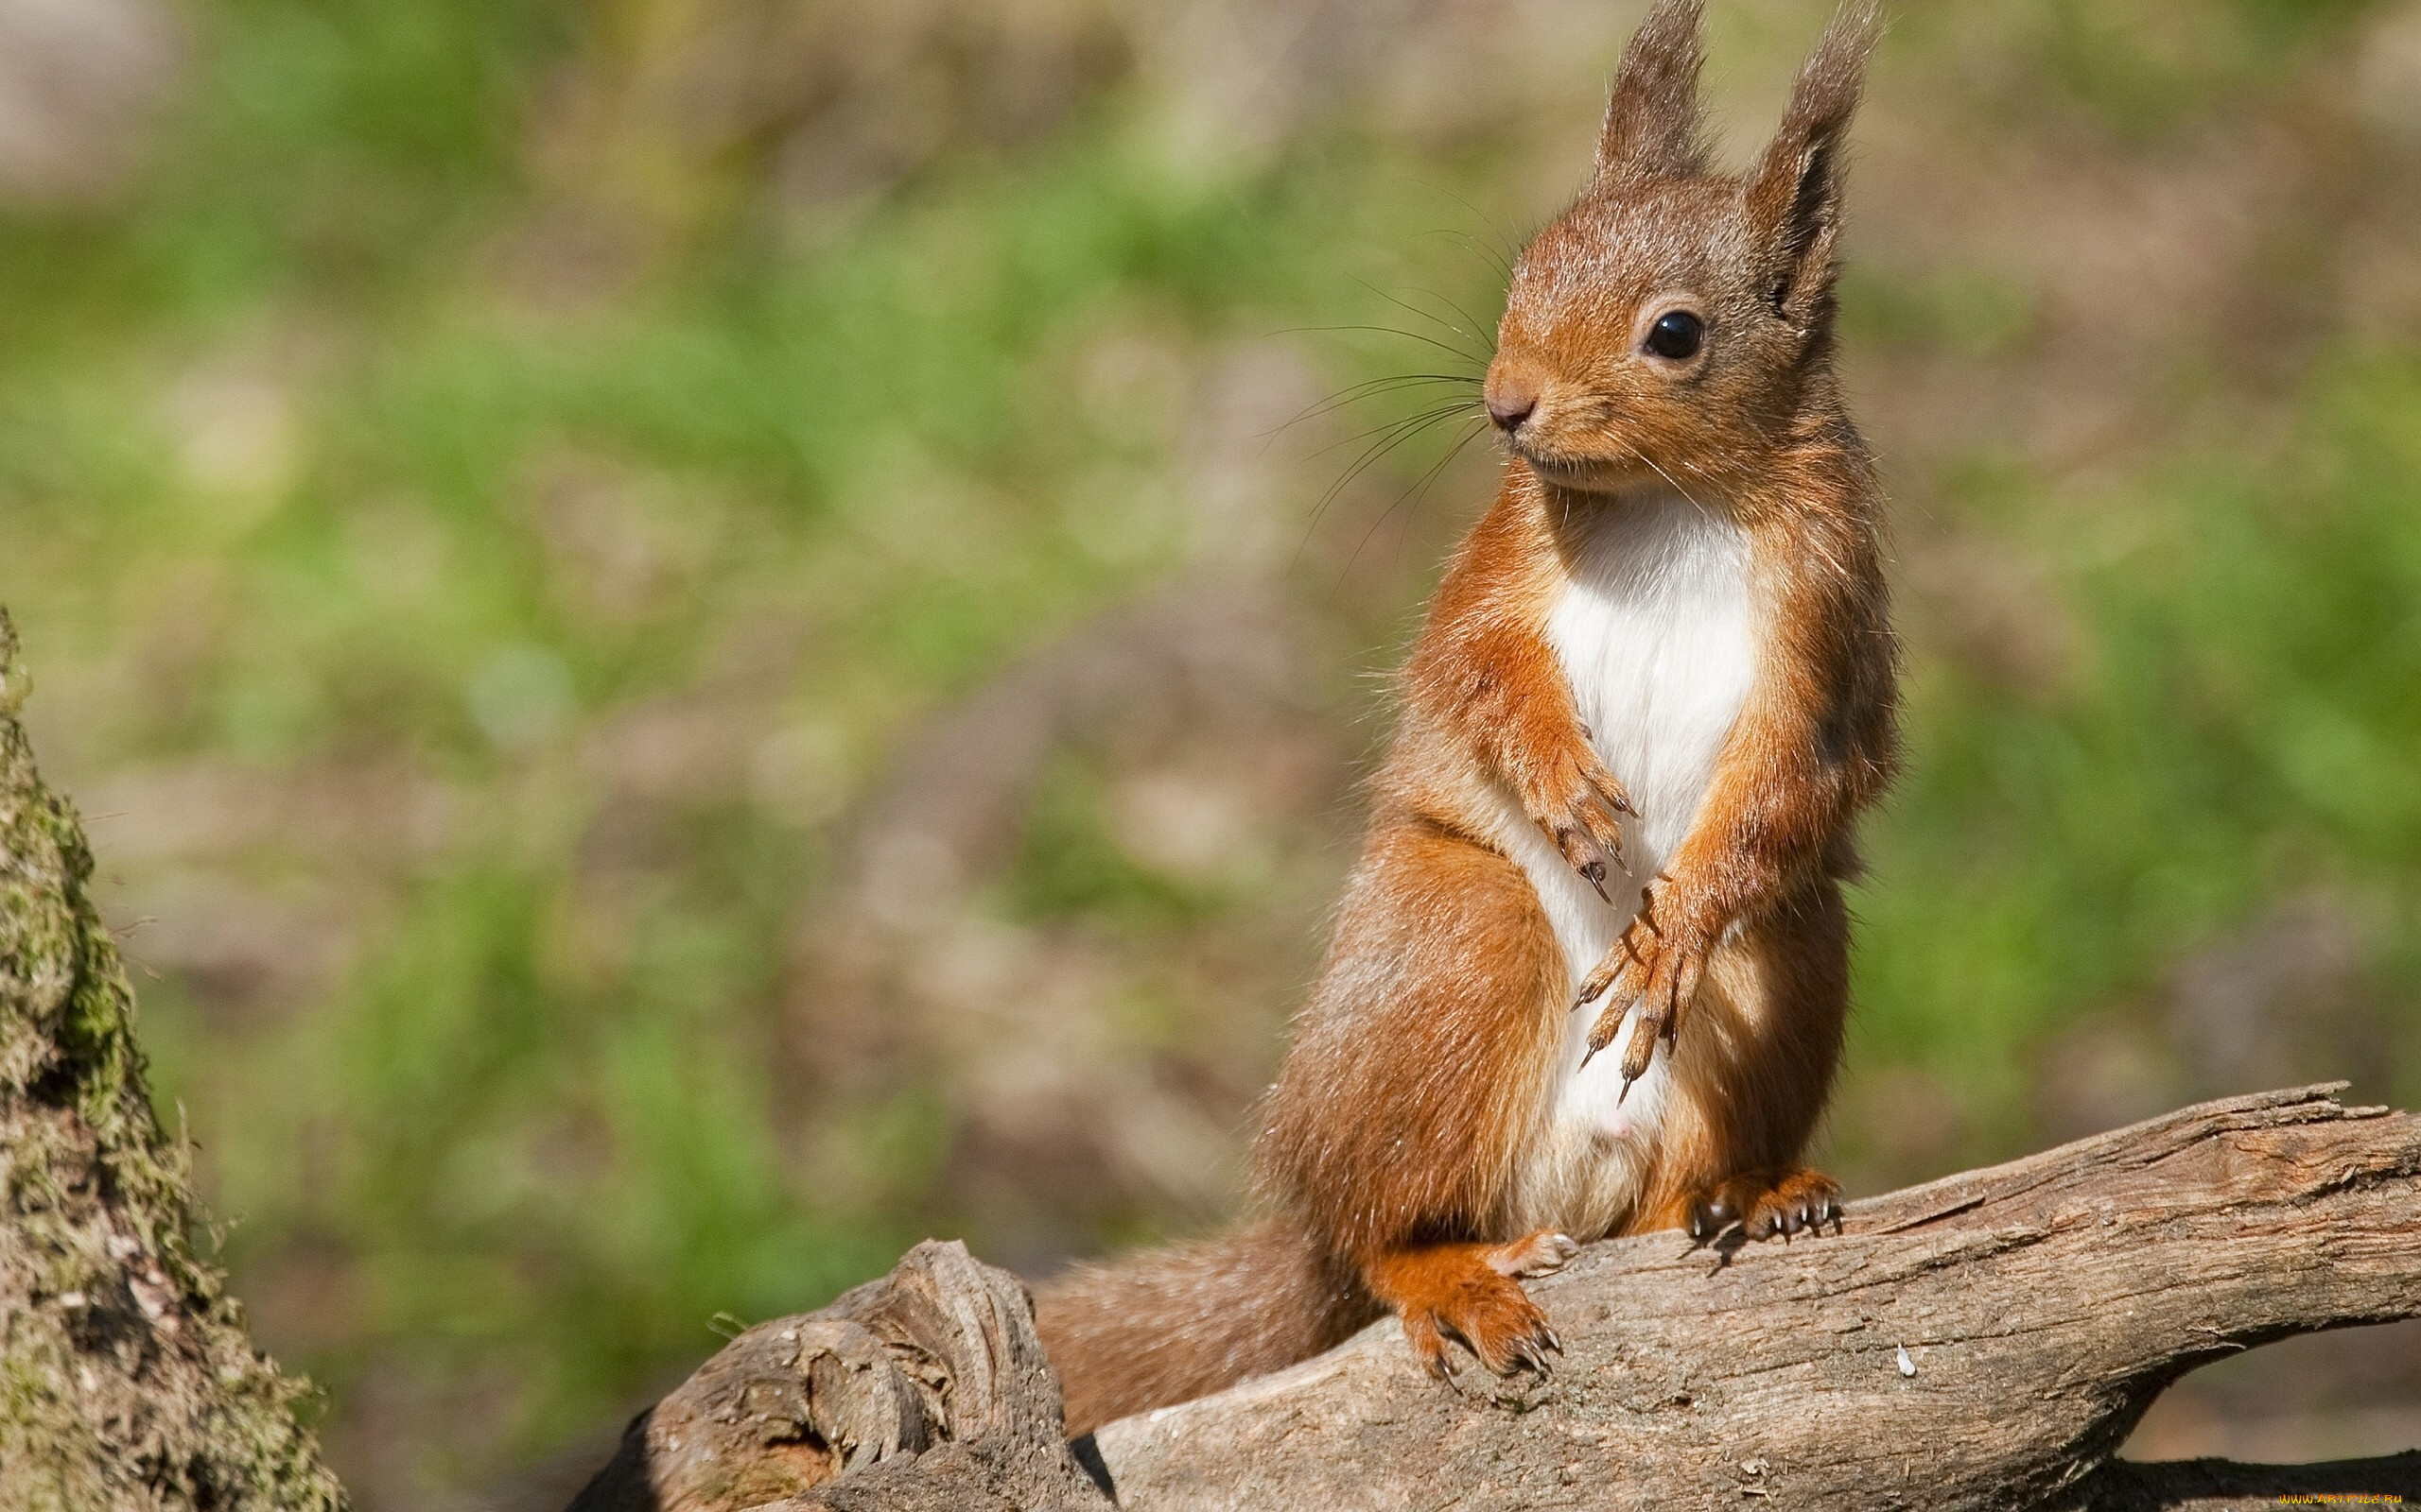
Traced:
[[[1869, 5], [1746, 174], [1700, 0], [1622, 53], [1595, 172], [1520, 254], [1494, 508], [1402, 677], [1370, 830], [1254, 1142], [1264, 1214], [1041, 1289], [1068, 1432], [1397, 1314], [1438, 1374], [1559, 1352], [1576, 1241], [1838, 1214], [1852, 825], [1896, 767], [1874, 462], [1833, 375]], [[1603, 1055], [1600, 1055], [1603, 1052]]]

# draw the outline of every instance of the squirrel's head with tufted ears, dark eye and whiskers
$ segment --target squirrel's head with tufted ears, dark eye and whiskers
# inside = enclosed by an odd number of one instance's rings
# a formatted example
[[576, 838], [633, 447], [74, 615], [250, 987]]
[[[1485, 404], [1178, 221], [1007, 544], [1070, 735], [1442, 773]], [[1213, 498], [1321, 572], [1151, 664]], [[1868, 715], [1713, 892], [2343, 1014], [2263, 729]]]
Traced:
[[1746, 174], [1707, 162], [1702, 0], [1622, 53], [1598, 167], [1513, 266], [1486, 409], [1540, 479], [1629, 491], [1738, 477], [1806, 419], [1833, 358], [1842, 152], [1881, 22], [1852, 0]]

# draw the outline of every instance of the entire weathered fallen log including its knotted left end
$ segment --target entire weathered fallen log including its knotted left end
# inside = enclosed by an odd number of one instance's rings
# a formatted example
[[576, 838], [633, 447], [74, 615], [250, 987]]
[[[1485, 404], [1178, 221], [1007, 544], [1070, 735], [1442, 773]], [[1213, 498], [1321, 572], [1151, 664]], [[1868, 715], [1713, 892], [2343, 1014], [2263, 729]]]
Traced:
[[[1433, 1381], [1387, 1321], [1075, 1452], [1022, 1289], [920, 1246], [889, 1282], [741, 1335], [632, 1425], [576, 1510], [983, 1507], [1010, 1464], [1039, 1488], [1017, 1505], [1106, 1507], [1080, 1459], [1119, 1507], [1150, 1512], [2421, 1497], [2421, 1454], [2114, 1459], [2196, 1364], [2421, 1316], [2421, 1118], [2334, 1091], [2203, 1103], [1854, 1202], [1840, 1231], [1796, 1243], [1591, 1246], [1535, 1285], [1566, 1347], [1542, 1381]], [[935, 1347], [913, 1323], [927, 1314], [983, 1328]], [[981, 1403], [966, 1430], [959, 1403]], [[775, 1454], [787, 1481], [743, 1483], [738, 1466]]]

